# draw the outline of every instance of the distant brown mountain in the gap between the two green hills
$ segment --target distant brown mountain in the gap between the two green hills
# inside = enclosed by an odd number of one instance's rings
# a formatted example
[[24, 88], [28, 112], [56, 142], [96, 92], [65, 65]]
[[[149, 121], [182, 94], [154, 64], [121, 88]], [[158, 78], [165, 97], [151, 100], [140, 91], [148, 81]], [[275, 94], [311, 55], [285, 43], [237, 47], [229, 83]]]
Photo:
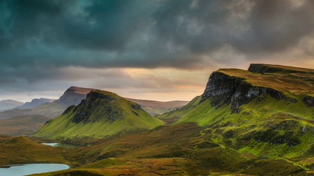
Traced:
[[188, 101], [169, 101], [169, 102], [160, 102], [152, 100], [138, 100], [132, 98], [125, 98], [132, 102], [138, 103], [141, 105], [142, 109], [148, 112], [151, 115], [163, 114], [171, 110], [176, 110], [181, 108], [188, 103]]

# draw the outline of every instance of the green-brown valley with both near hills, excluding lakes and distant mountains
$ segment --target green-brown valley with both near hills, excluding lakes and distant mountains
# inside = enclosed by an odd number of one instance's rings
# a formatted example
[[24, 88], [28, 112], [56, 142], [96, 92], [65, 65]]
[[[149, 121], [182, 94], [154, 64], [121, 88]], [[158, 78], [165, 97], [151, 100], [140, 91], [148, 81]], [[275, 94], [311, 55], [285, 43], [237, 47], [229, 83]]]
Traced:
[[[313, 83], [308, 68], [222, 68], [202, 95], [183, 107], [172, 102], [173, 109], [154, 117], [144, 108], [154, 102], [81, 89], [84, 100], [68, 103], [36, 132], [0, 135], [0, 165], [75, 164], [33, 176], [312, 176]], [[54, 142], [83, 146], [40, 144]]]

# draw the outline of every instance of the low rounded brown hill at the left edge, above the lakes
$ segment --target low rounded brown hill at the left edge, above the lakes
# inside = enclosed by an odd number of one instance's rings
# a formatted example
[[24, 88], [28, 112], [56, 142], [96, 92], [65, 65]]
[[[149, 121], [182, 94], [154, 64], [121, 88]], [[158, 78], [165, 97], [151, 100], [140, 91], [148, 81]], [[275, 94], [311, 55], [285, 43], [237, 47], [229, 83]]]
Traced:
[[38, 130], [49, 119], [42, 115], [21, 115], [0, 119], [0, 134], [26, 136]]

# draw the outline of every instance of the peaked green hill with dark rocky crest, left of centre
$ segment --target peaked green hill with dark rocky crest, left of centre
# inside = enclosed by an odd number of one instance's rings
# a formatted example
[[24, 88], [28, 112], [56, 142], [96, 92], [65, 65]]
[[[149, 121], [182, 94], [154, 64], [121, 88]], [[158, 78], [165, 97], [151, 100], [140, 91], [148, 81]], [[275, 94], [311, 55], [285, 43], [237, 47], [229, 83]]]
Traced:
[[93, 90], [78, 106], [70, 106], [30, 136], [63, 139], [108, 137], [150, 130], [160, 125], [163, 123], [140, 105], [115, 93]]

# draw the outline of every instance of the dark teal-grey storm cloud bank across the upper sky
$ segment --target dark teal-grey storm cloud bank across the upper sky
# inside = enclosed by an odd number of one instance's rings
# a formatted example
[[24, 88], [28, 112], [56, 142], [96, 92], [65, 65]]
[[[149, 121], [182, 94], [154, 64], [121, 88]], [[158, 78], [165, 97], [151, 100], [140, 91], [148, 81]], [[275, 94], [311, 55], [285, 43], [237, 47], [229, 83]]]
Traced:
[[314, 32], [313, 1], [294, 2], [2, 0], [0, 64], [33, 71], [21, 75], [30, 79], [67, 66], [206, 67], [200, 55], [226, 44], [243, 54], [281, 52]]

